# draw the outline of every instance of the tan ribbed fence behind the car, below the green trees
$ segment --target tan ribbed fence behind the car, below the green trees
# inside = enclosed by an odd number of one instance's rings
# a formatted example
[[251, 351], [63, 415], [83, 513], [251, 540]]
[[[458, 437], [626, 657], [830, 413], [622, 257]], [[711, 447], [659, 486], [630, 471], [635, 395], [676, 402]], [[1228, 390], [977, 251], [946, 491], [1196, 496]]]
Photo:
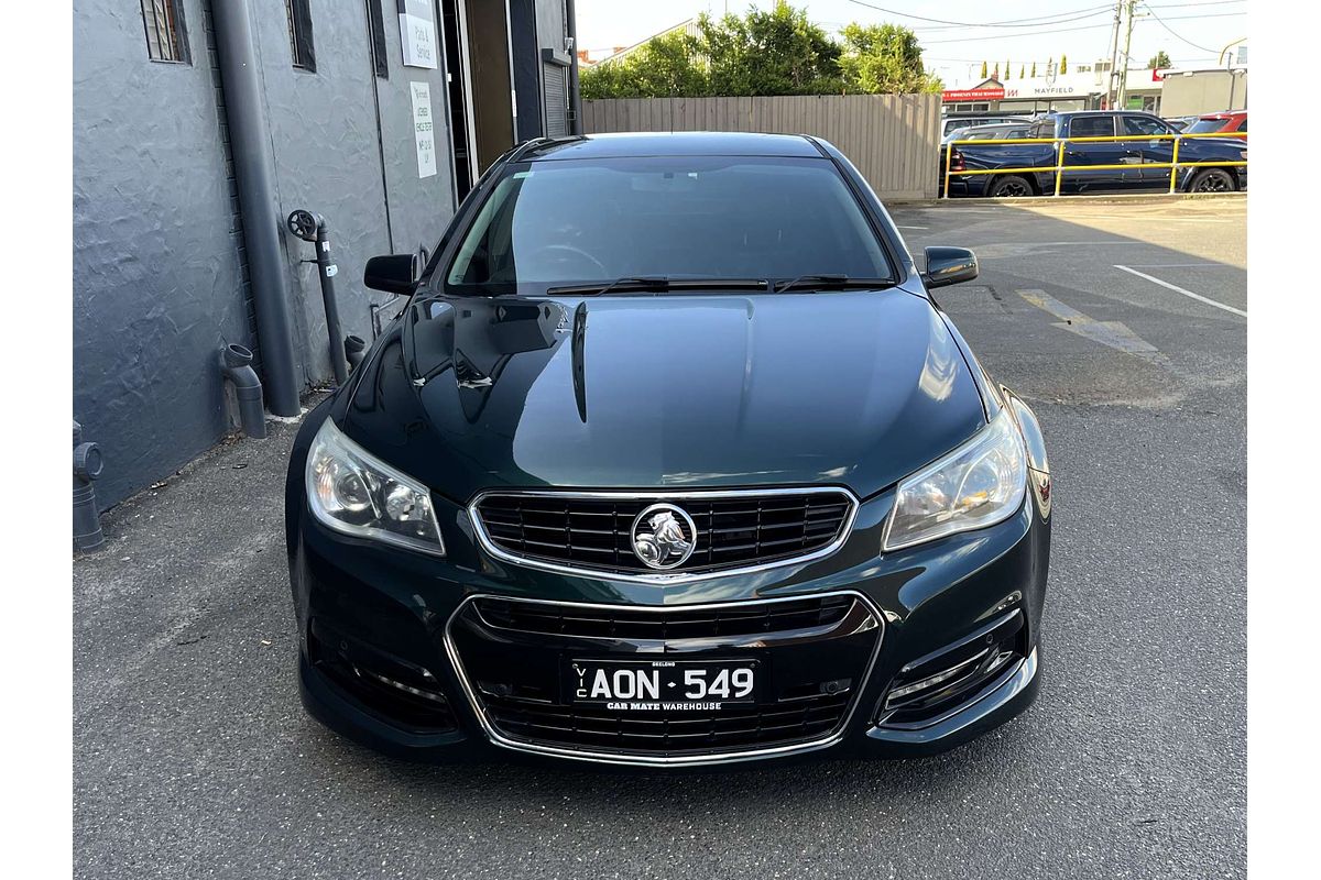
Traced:
[[778, 132], [838, 146], [882, 199], [937, 195], [939, 95], [620, 98], [583, 102], [584, 131]]

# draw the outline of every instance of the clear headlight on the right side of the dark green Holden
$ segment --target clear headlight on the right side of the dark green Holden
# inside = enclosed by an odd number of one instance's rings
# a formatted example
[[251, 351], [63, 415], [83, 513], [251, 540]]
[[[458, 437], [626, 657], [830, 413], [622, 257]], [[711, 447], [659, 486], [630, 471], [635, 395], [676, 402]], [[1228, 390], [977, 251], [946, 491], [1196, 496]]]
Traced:
[[1022, 504], [1026, 478], [1022, 435], [1001, 409], [972, 439], [900, 483], [881, 546], [898, 550], [995, 525]]

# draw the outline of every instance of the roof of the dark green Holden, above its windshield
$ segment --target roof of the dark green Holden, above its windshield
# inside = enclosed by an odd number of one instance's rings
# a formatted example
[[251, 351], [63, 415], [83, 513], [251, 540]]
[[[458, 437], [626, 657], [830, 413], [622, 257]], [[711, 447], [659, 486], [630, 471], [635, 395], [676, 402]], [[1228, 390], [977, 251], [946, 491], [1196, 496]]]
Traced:
[[823, 158], [804, 135], [754, 132], [617, 132], [532, 141], [511, 158], [551, 161], [565, 158], [618, 158], [625, 156], [785, 156]]

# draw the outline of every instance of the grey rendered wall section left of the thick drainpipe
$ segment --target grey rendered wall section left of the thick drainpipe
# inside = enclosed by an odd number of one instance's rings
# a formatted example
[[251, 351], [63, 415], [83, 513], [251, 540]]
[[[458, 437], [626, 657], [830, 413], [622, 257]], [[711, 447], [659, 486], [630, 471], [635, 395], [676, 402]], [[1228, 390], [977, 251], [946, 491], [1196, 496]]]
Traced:
[[148, 59], [136, 3], [73, 9], [73, 405], [103, 507], [227, 430], [217, 352], [252, 343], [203, 9], [184, 11], [192, 65]]

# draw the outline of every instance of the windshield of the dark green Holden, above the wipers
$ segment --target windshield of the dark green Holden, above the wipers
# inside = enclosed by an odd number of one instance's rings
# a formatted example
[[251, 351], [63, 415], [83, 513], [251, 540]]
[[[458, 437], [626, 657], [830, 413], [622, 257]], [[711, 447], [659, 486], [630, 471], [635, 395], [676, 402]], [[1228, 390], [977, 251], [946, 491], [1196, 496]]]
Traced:
[[445, 273], [446, 290], [540, 296], [625, 277], [893, 278], [824, 158], [662, 156], [513, 164]]

